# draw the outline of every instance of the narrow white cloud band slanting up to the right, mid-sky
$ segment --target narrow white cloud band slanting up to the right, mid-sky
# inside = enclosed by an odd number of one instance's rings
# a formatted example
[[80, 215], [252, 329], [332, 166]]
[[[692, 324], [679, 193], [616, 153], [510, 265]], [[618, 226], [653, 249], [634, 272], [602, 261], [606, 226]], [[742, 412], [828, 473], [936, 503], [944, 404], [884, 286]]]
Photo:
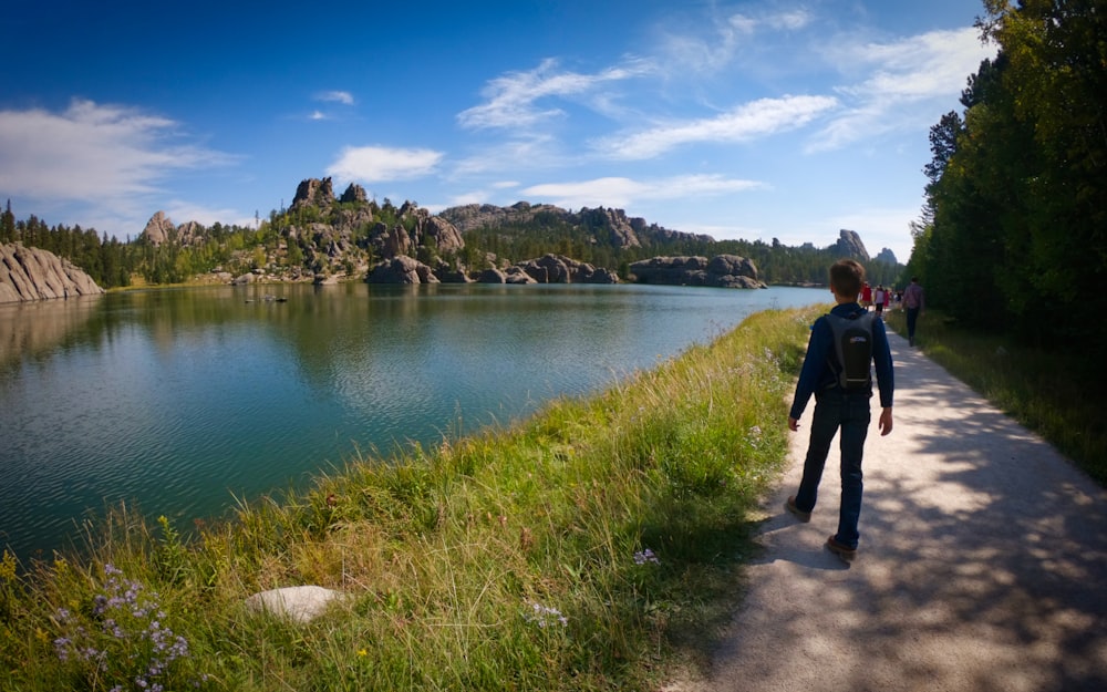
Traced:
[[838, 107], [832, 96], [759, 99], [714, 117], [673, 122], [624, 136], [604, 137], [597, 147], [613, 158], [652, 158], [699, 143], [737, 143], [796, 130]]

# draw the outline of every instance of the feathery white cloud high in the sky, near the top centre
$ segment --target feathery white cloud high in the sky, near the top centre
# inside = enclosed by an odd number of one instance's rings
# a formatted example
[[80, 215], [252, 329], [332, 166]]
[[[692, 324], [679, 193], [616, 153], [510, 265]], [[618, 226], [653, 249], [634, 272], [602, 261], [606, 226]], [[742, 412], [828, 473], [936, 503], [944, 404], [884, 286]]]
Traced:
[[[527, 72], [508, 72], [485, 86], [487, 101], [457, 114], [462, 127], [526, 130], [540, 122], [563, 115], [557, 106], [542, 106], [547, 99], [579, 99], [600, 87], [641, 76], [652, 68], [643, 61], [628, 61], [596, 74], [561, 71], [558, 61], [547, 59]], [[604, 101], [596, 104], [603, 106]]]

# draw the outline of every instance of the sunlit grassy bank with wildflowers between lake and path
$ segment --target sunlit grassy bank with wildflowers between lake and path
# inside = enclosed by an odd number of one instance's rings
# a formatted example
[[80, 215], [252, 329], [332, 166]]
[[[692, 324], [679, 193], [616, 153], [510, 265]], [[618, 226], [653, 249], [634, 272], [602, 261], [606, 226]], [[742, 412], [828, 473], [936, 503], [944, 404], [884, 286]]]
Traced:
[[[654, 689], [730, 616], [820, 312], [756, 314], [510, 430], [352, 461], [187, 541], [120, 508], [86, 557], [6, 555], [0, 689]], [[302, 583], [349, 598], [310, 624], [242, 605]]]

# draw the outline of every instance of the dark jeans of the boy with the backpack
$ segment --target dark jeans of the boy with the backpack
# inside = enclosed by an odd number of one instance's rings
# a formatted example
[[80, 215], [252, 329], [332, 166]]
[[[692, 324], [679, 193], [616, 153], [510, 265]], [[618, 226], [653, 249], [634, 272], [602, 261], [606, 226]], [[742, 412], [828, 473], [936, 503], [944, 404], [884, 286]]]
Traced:
[[811, 420], [811, 440], [804, 461], [804, 478], [799, 482], [796, 506], [810, 512], [818, 500], [819, 482], [835, 433], [841, 431], [841, 502], [838, 507], [838, 533], [835, 540], [850, 548], [857, 547], [857, 521], [861, 516], [861, 457], [865, 438], [869, 434], [871, 394], [847, 393], [834, 388], [815, 395], [815, 414]]

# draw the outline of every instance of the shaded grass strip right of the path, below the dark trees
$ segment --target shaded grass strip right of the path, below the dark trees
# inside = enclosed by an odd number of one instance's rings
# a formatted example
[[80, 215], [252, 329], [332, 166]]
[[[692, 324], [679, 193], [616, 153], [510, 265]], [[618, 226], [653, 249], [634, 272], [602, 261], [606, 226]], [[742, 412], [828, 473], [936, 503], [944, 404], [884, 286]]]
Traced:
[[[892, 310], [887, 322], [907, 334], [903, 312]], [[933, 310], [920, 318], [915, 337], [928, 358], [1107, 486], [1107, 428], [1098, 401], [1100, 391], [1083, 371], [1084, 361], [959, 329]], [[1098, 357], [1089, 353], [1088, 358]]]

